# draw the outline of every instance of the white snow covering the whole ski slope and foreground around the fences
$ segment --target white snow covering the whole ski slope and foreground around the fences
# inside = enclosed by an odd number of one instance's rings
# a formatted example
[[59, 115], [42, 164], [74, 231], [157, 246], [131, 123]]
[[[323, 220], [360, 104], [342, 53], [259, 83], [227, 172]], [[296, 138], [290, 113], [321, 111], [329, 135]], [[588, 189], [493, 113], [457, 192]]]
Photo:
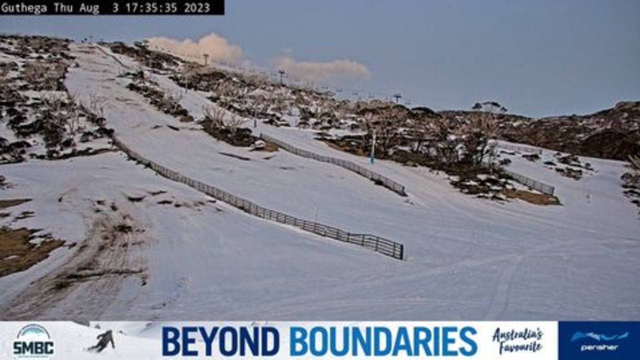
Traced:
[[[621, 195], [621, 163], [593, 160], [597, 172], [575, 181], [540, 161], [513, 156], [510, 168], [556, 186], [563, 206], [541, 207], [475, 199], [452, 188], [442, 174], [376, 161], [372, 169], [406, 186], [409, 196], [399, 197], [340, 167], [218, 142], [124, 88], [127, 80], [116, 77], [123, 69], [113, 58], [86, 45], [72, 49], [80, 66], [70, 69], [69, 90], [107, 97], [108, 126], [134, 151], [262, 206], [399, 241], [408, 259], [396, 261], [212, 204], [195, 190], [125, 162], [121, 154], [29, 161], [2, 167], [3, 175], [19, 184], [3, 197], [34, 199], [15, 209], [36, 213], [19, 225], [46, 228], [68, 241], [93, 241], [88, 234], [95, 217], [117, 220], [129, 214], [145, 229], [129, 235], [141, 243], [113, 254], [143, 272], [109, 281], [102, 293], [91, 291], [106, 279], [75, 284], [63, 301], [53, 297], [35, 313], [15, 307], [7, 318], [640, 318], [640, 221], [636, 207]], [[175, 90], [168, 79], [156, 79]], [[181, 103], [196, 119], [202, 105], [211, 104], [193, 91]], [[310, 131], [258, 126], [258, 133], [296, 147], [367, 164], [313, 140]], [[167, 193], [149, 194], [158, 190]], [[63, 193], [70, 195], [58, 202]], [[147, 195], [131, 202], [124, 194]], [[92, 204], [98, 199], [116, 202], [118, 211], [95, 215]], [[161, 200], [189, 206], [157, 204]], [[56, 250], [40, 265], [0, 279], [9, 290], [0, 306], [6, 309], [16, 294], [26, 299], [37, 293], [26, 284], [76, 256], [74, 251]]]

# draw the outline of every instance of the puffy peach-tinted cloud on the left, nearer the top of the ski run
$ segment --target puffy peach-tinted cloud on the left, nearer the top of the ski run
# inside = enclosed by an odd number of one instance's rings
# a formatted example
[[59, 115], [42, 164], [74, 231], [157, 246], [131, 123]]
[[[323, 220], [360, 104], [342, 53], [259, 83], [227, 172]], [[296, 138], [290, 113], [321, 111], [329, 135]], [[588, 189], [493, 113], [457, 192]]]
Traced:
[[197, 42], [193, 42], [191, 39], [181, 41], [164, 37], [149, 38], [148, 41], [152, 47], [164, 49], [183, 58], [202, 58], [204, 54], [208, 54], [211, 60], [230, 63], [244, 61], [244, 53], [239, 45], [232, 44], [226, 38], [215, 33], [211, 33]]

